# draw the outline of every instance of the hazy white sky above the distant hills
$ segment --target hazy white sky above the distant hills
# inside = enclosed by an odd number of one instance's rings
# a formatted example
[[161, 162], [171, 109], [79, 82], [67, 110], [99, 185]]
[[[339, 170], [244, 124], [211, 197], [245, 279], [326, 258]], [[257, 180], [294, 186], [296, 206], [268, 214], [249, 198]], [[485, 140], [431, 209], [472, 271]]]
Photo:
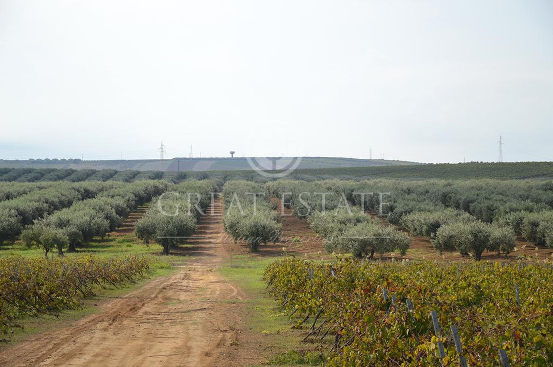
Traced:
[[0, 0], [0, 158], [553, 160], [553, 2]]

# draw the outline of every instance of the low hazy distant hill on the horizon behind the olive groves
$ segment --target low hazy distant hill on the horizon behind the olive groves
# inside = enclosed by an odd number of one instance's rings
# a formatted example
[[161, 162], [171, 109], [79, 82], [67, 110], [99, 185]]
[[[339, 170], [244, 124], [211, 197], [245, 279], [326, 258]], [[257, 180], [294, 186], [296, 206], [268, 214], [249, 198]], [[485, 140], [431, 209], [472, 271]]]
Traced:
[[[276, 169], [284, 168], [292, 157], [275, 157]], [[423, 164], [388, 159], [357, 159], [340, 157], [302, 157], [298, 169], [371, 166], [402, 166]], [[81, 161], [81, 159], [29, 159], [28, 161], [0, 159], [0, 168], [72, 168], [116, 169], [125, 171], [235, 171], [252, 169], [246, 157], [236, 158], [173, 158], [119, 159], [113, 161]]]

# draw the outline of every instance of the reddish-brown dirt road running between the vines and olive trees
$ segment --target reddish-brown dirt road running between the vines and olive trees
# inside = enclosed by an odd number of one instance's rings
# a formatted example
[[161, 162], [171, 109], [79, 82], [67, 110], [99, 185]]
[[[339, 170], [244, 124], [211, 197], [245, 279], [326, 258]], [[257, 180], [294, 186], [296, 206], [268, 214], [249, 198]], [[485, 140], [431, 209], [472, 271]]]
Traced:
[[33, 336], [0, 353], [1, 366], [246, 365], [235, 344], [244, 295], [221, 278], [228, 257], [222, 203], [200, 221], [196, 256], [170, 276], [101, 305], [68, 327]]

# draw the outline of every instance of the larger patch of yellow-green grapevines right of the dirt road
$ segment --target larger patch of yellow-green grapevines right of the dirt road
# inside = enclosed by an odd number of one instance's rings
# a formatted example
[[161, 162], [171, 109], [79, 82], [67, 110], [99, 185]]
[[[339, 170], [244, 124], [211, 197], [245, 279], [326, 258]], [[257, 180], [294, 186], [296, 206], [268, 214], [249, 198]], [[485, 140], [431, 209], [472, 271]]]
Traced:
[[315, 331], [328, 329], [334, 341], [331, 366], [440, 365], [438, 342], [445, 347], [443, 363], [457, 365], [451, 325], [458, 327], [469, 365], [499, 365], [498, 349], [507, 351], [511, 365], [553, 364], [551, 264], [286, 258], [269, 265], [265, 280], [284, 310], [300, 320], [319, 315]]

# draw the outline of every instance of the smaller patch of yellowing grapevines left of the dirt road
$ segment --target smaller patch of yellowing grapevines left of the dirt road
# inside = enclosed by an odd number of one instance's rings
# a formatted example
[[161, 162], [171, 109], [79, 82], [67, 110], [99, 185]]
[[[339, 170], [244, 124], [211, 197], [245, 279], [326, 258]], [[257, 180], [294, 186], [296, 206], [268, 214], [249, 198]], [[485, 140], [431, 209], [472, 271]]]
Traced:
[[0, 258], [0, 332], [9, 334], [21, 317], [76, 309], [82, 299], [95, 295], [97, 286], [129, 283], [145, 276], [148, 269], [148, 259], [136, 255]]

